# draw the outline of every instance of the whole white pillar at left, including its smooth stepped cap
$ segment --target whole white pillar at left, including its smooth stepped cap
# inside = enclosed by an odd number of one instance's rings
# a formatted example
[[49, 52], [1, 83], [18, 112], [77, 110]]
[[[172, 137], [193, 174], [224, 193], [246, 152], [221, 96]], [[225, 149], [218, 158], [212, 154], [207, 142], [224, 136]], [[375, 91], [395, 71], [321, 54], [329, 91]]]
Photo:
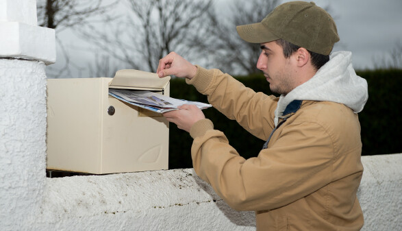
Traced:
[[35, 0], [0, 0], [0, 230], [30, 230], [43, 199], [55, 32], [37, 24]]

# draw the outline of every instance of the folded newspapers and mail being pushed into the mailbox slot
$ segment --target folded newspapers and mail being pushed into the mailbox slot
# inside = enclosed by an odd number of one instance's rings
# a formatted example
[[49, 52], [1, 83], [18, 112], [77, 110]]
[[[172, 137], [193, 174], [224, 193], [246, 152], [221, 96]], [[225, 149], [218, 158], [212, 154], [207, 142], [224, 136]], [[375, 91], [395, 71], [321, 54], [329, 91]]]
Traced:
[[210, 108], [211, 104], [204, 104], [196, 101], [188, 101], [184, 99], [175, 99], [149, 90], [125, 90], [125, 89], [109, 89], [109, 95], [125, 101], [128, 104], [145, 108], [153, 112], [164, 113], [171, 110], [177, 110], [183, 104], [194, 104], [200, 109]]

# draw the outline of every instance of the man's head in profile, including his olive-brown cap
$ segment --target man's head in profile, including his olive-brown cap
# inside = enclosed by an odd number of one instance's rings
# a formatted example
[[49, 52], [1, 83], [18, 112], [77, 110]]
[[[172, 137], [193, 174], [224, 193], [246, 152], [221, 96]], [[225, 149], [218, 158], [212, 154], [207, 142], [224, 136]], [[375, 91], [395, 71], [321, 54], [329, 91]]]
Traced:
[[279, 5], [261, 23], [237, 27], [243, 40], [260, 43], [257, 68], [274, 93], [286, 95], [329, 60], [339, 36], [331, 16], [315, 3]]

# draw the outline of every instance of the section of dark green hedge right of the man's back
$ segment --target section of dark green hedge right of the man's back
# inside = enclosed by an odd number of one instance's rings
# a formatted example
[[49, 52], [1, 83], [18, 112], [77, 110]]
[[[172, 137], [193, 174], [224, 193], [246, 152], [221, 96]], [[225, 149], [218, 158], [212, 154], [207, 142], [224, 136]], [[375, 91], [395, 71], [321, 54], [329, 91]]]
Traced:
[[362, 155], [402, 152], [402, 70], [359, 71], [368, 83], [368, 101], [359, 119], [362, 126]]

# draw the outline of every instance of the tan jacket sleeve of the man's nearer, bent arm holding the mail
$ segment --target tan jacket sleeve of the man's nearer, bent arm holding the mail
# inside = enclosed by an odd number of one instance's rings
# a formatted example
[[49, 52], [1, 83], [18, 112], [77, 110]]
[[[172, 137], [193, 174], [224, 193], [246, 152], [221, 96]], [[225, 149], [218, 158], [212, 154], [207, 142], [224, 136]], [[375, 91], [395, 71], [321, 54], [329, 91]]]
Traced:
[[211, 122], [198, 121], [190, 130], [194, 170], [236, 210], [272, 210], [329, 184], [333, 147], [323, 127], [283, 126], [275, 144], [245, 160]]

